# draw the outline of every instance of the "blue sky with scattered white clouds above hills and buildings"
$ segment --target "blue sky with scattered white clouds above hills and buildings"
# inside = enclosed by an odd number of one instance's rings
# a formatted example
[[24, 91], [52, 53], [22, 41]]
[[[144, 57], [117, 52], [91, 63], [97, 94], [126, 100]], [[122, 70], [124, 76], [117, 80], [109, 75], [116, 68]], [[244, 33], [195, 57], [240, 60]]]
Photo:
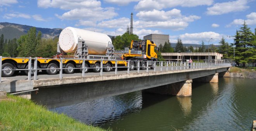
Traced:
[[131, 12], [140, 39], [168, 34], [172, 43], [217, 45], [222, 37], [232, 43], [244, 21], [256, 28], [256, 0], [0, 0], [0, 22], [113, 36], [130, 27]]

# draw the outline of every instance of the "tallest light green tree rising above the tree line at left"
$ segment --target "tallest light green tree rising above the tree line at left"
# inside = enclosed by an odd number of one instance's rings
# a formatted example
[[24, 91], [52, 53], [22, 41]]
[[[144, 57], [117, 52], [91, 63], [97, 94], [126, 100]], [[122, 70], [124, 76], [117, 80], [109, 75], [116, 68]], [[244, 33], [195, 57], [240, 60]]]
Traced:
[[19, 43], [19, 56], [20, 57], [33, 57], [36, 55], [36, 48], [41, 44], [41, 35], [42, 33], [39, 31], [36, 35], [36, 28], [31, 27], [28, 30], [28, 34], [26, 37], [20, 38], [18, 40]]

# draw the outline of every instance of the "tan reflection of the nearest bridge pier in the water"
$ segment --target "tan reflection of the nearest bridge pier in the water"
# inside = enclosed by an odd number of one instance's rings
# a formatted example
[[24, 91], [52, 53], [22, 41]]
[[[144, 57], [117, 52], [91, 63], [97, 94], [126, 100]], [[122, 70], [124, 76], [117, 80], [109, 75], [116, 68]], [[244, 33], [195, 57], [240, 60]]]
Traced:
[[178, 102], [180, 103], [181, 109], [185, 115], [189, 115], [191, 113], [191, 97], [176, 97]]

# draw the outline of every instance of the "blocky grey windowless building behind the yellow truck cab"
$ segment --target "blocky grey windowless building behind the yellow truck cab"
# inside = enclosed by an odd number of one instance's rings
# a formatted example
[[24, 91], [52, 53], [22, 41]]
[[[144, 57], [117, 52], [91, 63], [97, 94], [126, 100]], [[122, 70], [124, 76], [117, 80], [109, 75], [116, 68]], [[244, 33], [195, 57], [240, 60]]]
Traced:
[[161, 34], [150, 34], [143, 37], [144, 40], [151, 40], [153, 41], [157, 47], [159, 47], [160, 44], [164, 46], [164, 43], [169, 40], [169, 35], [161, 35]]

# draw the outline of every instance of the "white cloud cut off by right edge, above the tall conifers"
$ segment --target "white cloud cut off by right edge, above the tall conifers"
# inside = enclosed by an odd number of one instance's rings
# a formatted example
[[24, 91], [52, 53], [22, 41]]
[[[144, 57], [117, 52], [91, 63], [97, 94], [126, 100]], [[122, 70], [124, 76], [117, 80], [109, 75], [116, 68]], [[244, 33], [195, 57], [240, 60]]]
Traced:
[[249, 15], [246, 15], [247, 20], [243, 19], [235, 19], [230, 24], [226, 25], [226, 27], [231, 27], [232, 25], [242, 25], [244, 21], [247, 25], [256, 25], [256, 12], [252, 12]]

